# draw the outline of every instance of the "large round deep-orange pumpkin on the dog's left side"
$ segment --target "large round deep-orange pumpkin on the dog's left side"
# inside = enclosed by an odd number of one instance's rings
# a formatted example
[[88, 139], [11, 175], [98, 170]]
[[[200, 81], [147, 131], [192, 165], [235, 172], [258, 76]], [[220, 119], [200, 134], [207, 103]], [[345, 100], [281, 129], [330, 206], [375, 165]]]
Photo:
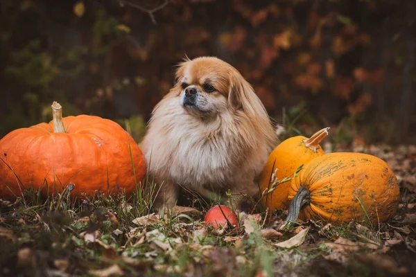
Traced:
[[51, 123], [16, 129], [0, 140], [0, 198], [12, 199], [25, 188], [45, 196], [71, 183], [75, 197], [118, 188], [131, 195], [146, 163], [128, 132], [98, 116], [62, 118], [57, 102], [52, 108]]

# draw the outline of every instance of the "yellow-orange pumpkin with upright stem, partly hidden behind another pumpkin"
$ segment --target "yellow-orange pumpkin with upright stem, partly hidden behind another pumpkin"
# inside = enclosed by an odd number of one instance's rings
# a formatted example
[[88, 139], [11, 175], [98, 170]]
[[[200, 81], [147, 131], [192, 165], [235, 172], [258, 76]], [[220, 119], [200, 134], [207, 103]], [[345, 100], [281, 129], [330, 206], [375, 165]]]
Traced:
[[[286, 139], [272, 151], [260, 175], [261, 192], [270, 190], [273, 183], [293, 175], [302, 164], [324, 153], [319, 143], [328, 136], [329, 128], [321, 129], [311, 136], [294, 136]], [[271, 211], [286, 208], [289, 204], [290, 181], [278, 184], [272, 193], [263, 196], [263, 204]]]

